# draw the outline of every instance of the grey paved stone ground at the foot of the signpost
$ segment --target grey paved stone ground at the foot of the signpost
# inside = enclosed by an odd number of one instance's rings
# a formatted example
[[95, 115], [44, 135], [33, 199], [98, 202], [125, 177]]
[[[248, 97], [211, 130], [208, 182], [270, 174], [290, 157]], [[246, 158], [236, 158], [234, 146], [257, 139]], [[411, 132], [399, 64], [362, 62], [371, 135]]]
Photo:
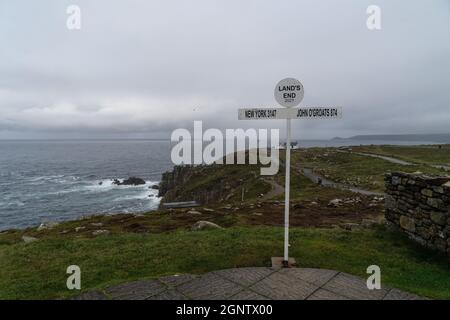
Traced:
[[308, 268], [238, 268], [201, 276], [173, 275], [84, 293], [78, 300], [416, 300], [393, 288], [369, 290], [366, 280]]

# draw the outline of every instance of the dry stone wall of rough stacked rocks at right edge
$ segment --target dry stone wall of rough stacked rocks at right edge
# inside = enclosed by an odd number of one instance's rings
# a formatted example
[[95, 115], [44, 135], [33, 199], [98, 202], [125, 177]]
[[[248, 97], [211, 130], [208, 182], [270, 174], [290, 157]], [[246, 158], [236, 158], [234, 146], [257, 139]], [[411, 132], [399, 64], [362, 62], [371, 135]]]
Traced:
[[386, 174], [388, 224], [450, 256], [450, 178]]

